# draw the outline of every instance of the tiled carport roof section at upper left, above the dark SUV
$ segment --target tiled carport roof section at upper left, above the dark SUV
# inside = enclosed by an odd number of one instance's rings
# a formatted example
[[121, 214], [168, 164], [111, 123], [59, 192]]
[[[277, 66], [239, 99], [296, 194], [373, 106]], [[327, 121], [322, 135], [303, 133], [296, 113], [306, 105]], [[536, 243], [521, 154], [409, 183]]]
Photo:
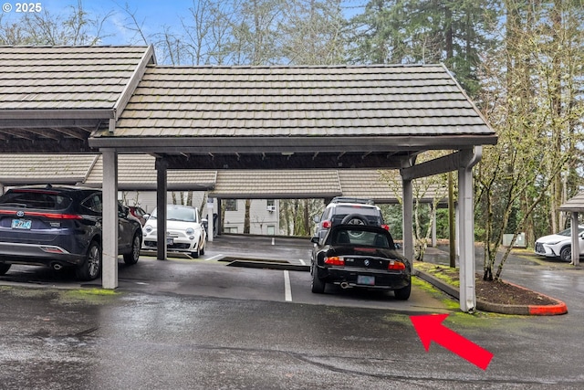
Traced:
[[151, 47], [0, 47], [0, 152], [85, 152], [117, 121]]

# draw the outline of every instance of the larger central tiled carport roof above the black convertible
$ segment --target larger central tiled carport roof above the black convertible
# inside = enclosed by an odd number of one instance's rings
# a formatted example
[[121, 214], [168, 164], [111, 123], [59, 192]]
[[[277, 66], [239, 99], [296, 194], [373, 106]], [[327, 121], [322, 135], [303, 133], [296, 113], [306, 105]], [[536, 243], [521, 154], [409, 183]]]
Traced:
[[155, 148], [170, 169], [398, 168], [495, 142], [442, 65], [148, 67], [114, 132], [89, 140]]

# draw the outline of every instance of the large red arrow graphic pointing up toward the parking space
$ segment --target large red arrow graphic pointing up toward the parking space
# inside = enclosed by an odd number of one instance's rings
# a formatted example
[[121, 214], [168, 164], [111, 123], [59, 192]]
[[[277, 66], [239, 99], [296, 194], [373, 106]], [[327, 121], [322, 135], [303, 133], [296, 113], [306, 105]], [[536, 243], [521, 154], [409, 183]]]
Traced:
[[418, 332], [426, 352], [430, 350], [430, 343], [439, 343], [447, 350], [486, 370], [486, 366], [489, 365], [493, 358], [493, 353], [465, 339], [457, 332], [446, 328], [442, 324], [446, 317], [448, 317], [448, 314], [410, 316], [413, 327]]

